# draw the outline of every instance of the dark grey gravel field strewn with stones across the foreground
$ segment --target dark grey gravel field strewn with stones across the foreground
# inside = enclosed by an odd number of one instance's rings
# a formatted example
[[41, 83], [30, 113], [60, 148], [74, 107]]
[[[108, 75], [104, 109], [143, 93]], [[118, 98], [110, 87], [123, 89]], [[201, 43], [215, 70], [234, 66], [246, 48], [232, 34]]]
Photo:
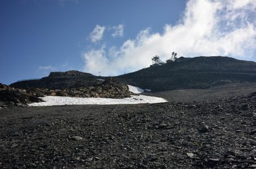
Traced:
[[0, 168], [255, 168], [256, 94], [0, 109]]

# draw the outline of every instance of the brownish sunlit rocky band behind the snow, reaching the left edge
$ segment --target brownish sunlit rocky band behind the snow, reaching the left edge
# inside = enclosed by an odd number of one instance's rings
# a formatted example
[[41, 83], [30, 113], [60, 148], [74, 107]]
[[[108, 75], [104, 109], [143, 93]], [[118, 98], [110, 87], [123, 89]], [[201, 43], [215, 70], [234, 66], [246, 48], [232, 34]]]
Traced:
[[[69, 73], [72, 73], [70, 71]], [[68, 74], [69, 74], [68, 73]], [[73, 72], [74, 73], [74, 72]], [[27, 105], [33, 102], [43, 102], [43, 96], [69, 96], [76, 98], [129, 98], [133, 94], [129, 87], [114, 78], [106, 78], [104, 82], [93, 85], [72, 87], [64, 90], [48, 88], [12, 88], [0, 83], [0, 107], [9, 105]]]

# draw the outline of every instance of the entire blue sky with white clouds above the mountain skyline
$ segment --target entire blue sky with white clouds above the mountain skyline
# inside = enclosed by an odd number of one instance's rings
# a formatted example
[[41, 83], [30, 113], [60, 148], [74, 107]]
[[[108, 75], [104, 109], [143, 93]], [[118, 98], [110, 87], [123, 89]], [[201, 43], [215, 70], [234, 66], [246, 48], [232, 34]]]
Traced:
[[2, 0], [0, 82], [50, 71], [118, 75], [172, 51], [256, 61], [255, 9], [254, 0]]

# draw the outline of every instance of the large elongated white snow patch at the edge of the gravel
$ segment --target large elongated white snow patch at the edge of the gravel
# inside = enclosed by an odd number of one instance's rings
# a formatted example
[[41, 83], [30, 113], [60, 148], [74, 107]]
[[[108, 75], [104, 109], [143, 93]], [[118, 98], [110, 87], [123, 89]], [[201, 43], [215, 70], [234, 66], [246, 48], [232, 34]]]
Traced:
[[47, 105], [71, 105], [71, 104], [140, 104], [140, 103], [164, 103], [168, 102], [163, 98], [153, 96], [131, 96], [131, 98], [111, 99], [111, 98], [72, 98], [64, 96], [45, 96], [42, 98], [46, 102], [31, 103], [29, 106]]

